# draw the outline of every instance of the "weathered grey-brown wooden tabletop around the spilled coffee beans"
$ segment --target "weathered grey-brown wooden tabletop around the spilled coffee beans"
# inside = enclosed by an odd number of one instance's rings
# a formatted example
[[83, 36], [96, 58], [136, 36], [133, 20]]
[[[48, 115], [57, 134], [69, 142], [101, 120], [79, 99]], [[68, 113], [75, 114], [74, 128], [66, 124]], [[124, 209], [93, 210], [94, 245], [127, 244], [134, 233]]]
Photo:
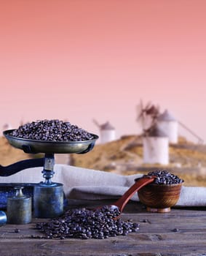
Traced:
[[[112, 201], [70, 200], [70, 208], [100, 206]], [[173, 208], [169, 213], [149, 213], [141, 203], [130, 202], [122, 219], [140, 224], [138, 233], [99, 239], [64, 240], [32, 238], [39, 236], [33, 219], [28, 225], [0, 227], [1, 256], [45, 255], [206, 255], [206, 208]], [[15, 229], [19, 233], [15, 233]]]

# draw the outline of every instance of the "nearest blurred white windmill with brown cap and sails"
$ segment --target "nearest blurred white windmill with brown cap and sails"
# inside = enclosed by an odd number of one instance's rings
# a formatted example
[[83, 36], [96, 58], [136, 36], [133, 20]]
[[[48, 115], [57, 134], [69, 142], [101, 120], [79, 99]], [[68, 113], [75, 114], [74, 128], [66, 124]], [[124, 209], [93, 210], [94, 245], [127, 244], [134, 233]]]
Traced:
[[143, 129], [143, 162], [146, 164], [168, 165], [169, 140], [157, 124], [159, 106], [148, 102], [144, 107], [140, 100], [137, 112], [137, 121]]

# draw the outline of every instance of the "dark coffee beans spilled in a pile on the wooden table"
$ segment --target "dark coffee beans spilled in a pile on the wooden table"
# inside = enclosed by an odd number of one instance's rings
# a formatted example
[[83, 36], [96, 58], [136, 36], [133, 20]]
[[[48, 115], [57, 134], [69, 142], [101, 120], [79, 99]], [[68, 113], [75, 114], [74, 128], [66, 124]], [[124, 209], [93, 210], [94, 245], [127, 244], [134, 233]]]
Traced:
[[119, 216], [118, 208], [103, 206], [95, 211], [76, 208], [66, 211], [63, 217], [36, 224], [45, 238], [104, 239], [111, 236], [126, 236], [137, 232], [139, 224], [132, 220], [114, 219]]

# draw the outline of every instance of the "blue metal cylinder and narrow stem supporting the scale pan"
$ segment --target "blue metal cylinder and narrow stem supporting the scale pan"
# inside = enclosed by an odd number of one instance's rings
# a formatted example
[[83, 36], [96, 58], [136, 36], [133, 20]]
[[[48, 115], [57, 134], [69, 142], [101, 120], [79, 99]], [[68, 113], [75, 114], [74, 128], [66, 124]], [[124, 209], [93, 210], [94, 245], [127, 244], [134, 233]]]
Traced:
[[54, 154], [45, 154], [45, 181], [41, 181], [33, 189], [33, 212], [37, 218], [55, 218], [63, 214], [63, 184], [51, 181], [54, 175]]

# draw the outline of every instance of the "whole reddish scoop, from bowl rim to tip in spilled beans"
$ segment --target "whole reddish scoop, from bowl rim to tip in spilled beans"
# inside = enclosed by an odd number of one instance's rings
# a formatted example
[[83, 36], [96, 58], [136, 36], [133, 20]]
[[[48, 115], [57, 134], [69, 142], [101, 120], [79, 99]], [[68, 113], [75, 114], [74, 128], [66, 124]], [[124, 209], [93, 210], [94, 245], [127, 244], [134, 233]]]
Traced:
[[[115, 215], [112, 219], [118, 219], [120, 215], [122, 214], [122, 211], [124, 207], [126, 206], [127, 202], [130, 200], [130, 198], [135, 194], [135, 192], [138, 192], [139, 189], [146, 186], [147, 184], [150, 184], [154, 181], [156, 177], [155, 176], [146, 176], [143, 178], [138, 178], [135, 180], [135, 184], [128, 189], [122, 197], [120, 197], [114, 204], [110, 205], [109, 208], [112, 212], [115, 212]], [[103, 206], [106, 207], [106, 206]], [[101, 209], [103, 207], [98, 207], [98, 209]]]

